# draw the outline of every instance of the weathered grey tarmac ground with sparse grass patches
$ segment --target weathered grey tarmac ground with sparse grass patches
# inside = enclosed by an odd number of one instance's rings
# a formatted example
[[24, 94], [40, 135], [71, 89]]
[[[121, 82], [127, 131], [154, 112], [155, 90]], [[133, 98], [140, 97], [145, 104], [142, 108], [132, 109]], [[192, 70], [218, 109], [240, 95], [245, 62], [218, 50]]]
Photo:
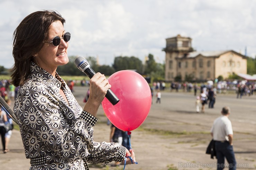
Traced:
[[[75, 87], [74, 96], [84, 105], [86, 87]], [[155, 95], [155, 94], [154, 94]], [[234, 151], [237, 169], [256, 169], [256, 95], [237, 99], [235, 94], [217, 94], [214, 109], [196, 113], [193, 93], [162, 92], [161, 104], [153, 104], [147, 119], [132, 131], [131, 146], [138, 164], [127, 165], [126, 170], [208, 170], [216, 169], [216, 159], [205, 154], [211, 140], [210, 128], [221, 115], [223, 106], [231, 108], [229, 119], [234, 131]], [[109, 141], [110, 126], [100, 107], [94, 127], [95, 141]], [[1, 149], [2, 146], [0, 146]], [[29, 160], [18, 130], [13, 130], [10, 152], [0, 152], [0, 169], [28, 170]], [[123, 166], [90, 165], [90, 170], [121, 170]], [[228, 168], [226, 168], [228, 169]]]

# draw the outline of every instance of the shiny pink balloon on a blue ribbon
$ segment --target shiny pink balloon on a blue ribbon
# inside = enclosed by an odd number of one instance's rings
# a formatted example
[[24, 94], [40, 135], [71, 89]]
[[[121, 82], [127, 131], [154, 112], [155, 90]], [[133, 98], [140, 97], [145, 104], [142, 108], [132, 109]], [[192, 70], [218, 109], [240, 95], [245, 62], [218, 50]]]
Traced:
[[118, 71], [108, 81], [120, 101], [113, 106], [104, 98], [102, 107], [106, 116], [118, 129], [131, 131], [138, 128], [147, 118], [152, 102], [147, 81], [130, 70]]

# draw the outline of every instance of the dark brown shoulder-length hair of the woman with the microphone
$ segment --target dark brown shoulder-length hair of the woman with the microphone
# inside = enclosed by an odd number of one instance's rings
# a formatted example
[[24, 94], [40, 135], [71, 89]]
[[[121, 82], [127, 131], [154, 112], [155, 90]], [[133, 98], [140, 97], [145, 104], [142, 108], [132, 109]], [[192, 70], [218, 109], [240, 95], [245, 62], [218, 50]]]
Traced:
[[53, 10], [37, 11], [25, 17], [13, 33], [14, 65], [11, 68], [11, 83], [22, 85], [30, 74], [30, 62], [41, 50], [49, 36], [51, 24], [55, 21], [65, 23], [60, 13]]

